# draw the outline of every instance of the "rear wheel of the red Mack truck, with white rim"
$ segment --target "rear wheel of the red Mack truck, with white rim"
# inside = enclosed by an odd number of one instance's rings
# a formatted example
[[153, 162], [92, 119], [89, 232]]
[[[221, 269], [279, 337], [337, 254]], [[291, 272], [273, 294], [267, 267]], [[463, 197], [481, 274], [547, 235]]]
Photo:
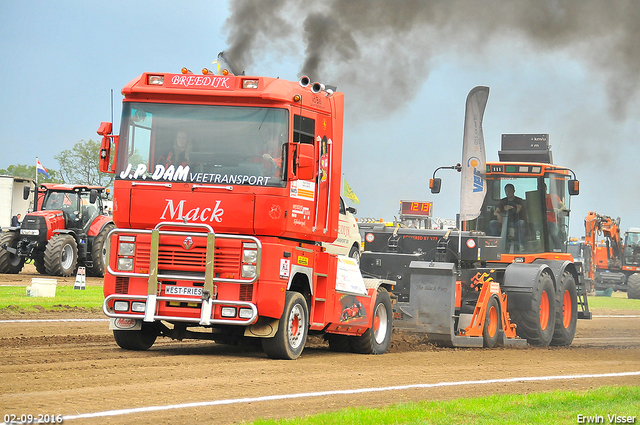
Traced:
[[389, 293], [385, 288], [378, 287], [371, 327], [361, 336], [351, 338], [351, 349], [360, 354], [386, 353], [391, 344], [392, 318]]

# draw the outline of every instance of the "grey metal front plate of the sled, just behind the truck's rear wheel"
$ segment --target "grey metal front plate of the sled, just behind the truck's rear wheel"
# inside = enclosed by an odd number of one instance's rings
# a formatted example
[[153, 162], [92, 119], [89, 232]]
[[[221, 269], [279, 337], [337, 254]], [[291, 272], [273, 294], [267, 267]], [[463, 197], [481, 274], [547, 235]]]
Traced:
[[482, 337], [456, 335], [453, 263], [412, 261], [409, 302], [398, 302], [394, 327], [424, 332], [429, 341], [449, 347], [482, 347]]

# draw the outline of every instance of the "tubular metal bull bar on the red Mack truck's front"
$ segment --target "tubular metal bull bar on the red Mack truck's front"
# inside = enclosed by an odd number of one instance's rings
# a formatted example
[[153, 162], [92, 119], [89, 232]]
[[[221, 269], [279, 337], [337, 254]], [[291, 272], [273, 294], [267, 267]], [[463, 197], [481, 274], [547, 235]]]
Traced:
[[[172, 229], [182, 228], [180, 230], [163, 230], [163, 227], [170, 227]], [[184, 229], [184, 230], [183, 230]], [[213, 228], [208, 224], [201, 223], [182, 223], [182, 222], [161, 222], [153, 230], [143, 229], [114, 229], [112, 230], [107, 240], [112, 241], [112, 236], [128, 234], [128, 235], [142, 235], [150, 234], [151, 243], [148, 250], [142, 248], [140, 254], [142, 257], [147, 257], [149, 261], [149, 272], [123, 272], [113, 270], [111, 267], [111, 261], [107, 265], [107, 271], [112, 276], [116, 277], [135, 277], [146, 278], [148, 280], [147, 295], [132, 295], [132, 294], [111, 294], [107, 296], [102, 304], [102, 311], [107, 317], [110, 318], [130, 318], [130, 319], [143, 319], [145, 322], [154, 322], [157, 320], [166, 321], [178, 321], [178, 322], [194, 322], [199, 323], [202, 326], [209, 326], [215, 324], [226, 325], [251, 325], [258, 319], [258, 309], [256, 305], [248, 301], [239, 300], [219, 300], [217, 299], [217, 287], [216, 283], [231, 283], [239, 285], [251, 285], [254, 284], [260, 277], [260, 259], [262, 256], [262, 243], [259, 239], [253, 236], [247, 235], [231, 235], [231, 234], [216, 234]], [[169, 251], [166, 247], [160, 245], [160, 236], [181, 236], [190, 238], [206, 238], [206, 249], [194, 252], [191, 259], [185, 257], [186, 262], [191, 264], [197, 264], [204, 268], [204, 273], [190, 273], [180, 272], [179, 270], [173, 270], [170, 273], [164, 271], [168, 265], [166, 261], [166, 255]], [[256, 251], [256, 258], [252, 262], [255, 264], [255, 276], [252, 278], [229, 278], [229, 277], [215, 277], [215, 270], [225, 270], [229, 268], [238, 269], [242, 267], [242, 249], [237, 253], [229, 253], [221, 251], [215, 253], [215, 241], [216, 239], [234, 239], [242, 241], [242, 245], [249, 245]], [[111, 258], [110, 250], [111, 243], [106, 244], [107, 256]], [[220, 258], [216, 258], [216, 257]], [[164, 260], [163, 260], [164, 257]], [[217, 260], [217, 261], [216, 261]], [[145, 261], [146, 262], [146, 261]], [[162, 266], [162, 269], [159, 268]], [[162, 272], [161, 272], [162, 270]], [[180, 296], [167, 296], [160, 295], [161, 285], [159, 279], [184, 279], [191, 281], [204, 282], [202, 288], [202, 296], [196, 297], [180, 297]], [[144, 313], [129, 313], [129, 312], [116, 312], [109, 307], [109, 302], [112, 300], [123, 301], [140, 301], [144, 302]], [[200, 304], [200, 317], [183, 317], [183, 316], [165, 316], [158, 314], [158, 302], [185, 302], [185, 303], [197, 303]], [[225, 319], [213, 318], [214, 306], [223, 305], [225, 307], [236, 307], [238, 310], [243, 309], [245, 315], [242, 318]], [[247, 316], [247, 310], [250, 310], [250, 316]], [[245, 317], [246, 316], [246, 317]]]

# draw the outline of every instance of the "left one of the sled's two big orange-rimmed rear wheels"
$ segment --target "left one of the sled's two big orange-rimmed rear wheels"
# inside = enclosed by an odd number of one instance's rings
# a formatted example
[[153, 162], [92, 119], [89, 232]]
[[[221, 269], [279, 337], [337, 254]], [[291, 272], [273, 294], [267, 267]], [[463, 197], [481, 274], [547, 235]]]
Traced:
[[556, 296], [553, 279], [542, 273], [533, 285], [531, 298], [520, 300], [509, 314], [516, 324], [516, 333], [530, 345], [547, 347], [553, 338]]

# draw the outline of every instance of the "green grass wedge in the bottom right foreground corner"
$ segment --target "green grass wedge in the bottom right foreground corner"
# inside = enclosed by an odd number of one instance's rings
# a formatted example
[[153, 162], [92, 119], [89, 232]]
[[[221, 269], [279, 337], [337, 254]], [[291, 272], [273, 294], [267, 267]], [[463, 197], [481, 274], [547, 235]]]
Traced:
[[253, 424], [575, 424], [579, 414], [602, 416], [602, 423], [609, 423], [608, 414], [635, 416], [634, 423], [638, 423], [640, 387], [423, 401], [384, 409], [349, 408], [304, 418], [258, 420]]

